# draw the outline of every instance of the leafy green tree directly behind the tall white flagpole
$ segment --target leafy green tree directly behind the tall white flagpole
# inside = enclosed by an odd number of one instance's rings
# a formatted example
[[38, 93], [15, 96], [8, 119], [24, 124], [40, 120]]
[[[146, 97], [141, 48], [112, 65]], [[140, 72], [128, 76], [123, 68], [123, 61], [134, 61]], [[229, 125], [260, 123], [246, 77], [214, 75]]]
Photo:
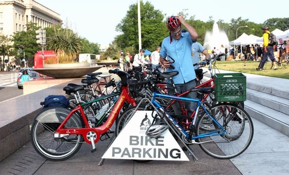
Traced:
[[[168, 35], [163, 14], [160, 10], [155, 10], [150, 2], [140, 3], [141, 7], [141, 30], [142, 30], [142, 48], [154, 51], [159, 46], [163, 38]], [[135, 53], [138, 53], [138, 12], [137, 3], [129, 6], [126, 17], [116, 26], [116, 31], [122, 32], [122, 35], [115, 37], [117, 46], [124, 49], [133, 47]]]

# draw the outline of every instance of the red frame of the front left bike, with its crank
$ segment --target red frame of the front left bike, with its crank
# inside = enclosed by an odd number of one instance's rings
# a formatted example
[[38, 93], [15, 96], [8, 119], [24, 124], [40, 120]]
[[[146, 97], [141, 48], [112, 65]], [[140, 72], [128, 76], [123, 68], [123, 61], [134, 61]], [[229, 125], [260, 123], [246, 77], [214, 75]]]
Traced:
[[[91, 127], [85, 113], [83, 110], [83, 106], [84, 105], [88, 105], [100, 100], [104, 100], [107, 98], [110, 98], [112, 96], [115, 95], [119, 95], [119, 98], [117, 99], [117, 101], [115, 102], [114, 105], [112, 105], [111, 107], [111, 112], [108, 116], [107, 121], [97, 127]], [[122, 106], [125, 104], [125, 102], [131, 103], [132, 105], [136, 105], [134, 99], [131, 98], [130, 94], [128, 93], [128, 88], [127, 86], [123, 86], [122, 87], [122, 91], [121, 93], [112, 93], [112, 94], [108, 94], [106, 96], [103, 96], [101, 98], [95, 99], [93, 101], [87, 102], [85, 104], [78, 104], [76, 108], [72, 109], [72, 111], [68, 114], [68, 116], [65, 118], [65, 120], [59, 125], [59, 127], [56, 129], [56, 131], [54, 132], [54, 138], [55, 139], [59, 139], [62, 137], [65, 137], [67, 135], [71, 135], [71, 134], [75, 134], [75, 135], [82, 135], [82, 137], [84, 138], [84, 140], [89, 143], [92, 144], [92, 149], [95, 149], [95, 144], [99, 139], [100, 136], [104, 133], [106, 133], [108, 131], [109, 128], [111, 128], [112, 124], [114, 123], [114, 121], [116, 120], [116, 118], [118, 117], [118, 114], [122, 108]], [[71, 118], [72, 114], [76, 113], [76, 112], [80, 112], [81, 114], [81, 119], [84, 122], [84, 126], [85, 128], [63, 128], [65, 123], [67, 123], [67, 121]], [[90, 138], [87, 137], [88, 133], [95, 133], [94, 136], [91, 135]]]

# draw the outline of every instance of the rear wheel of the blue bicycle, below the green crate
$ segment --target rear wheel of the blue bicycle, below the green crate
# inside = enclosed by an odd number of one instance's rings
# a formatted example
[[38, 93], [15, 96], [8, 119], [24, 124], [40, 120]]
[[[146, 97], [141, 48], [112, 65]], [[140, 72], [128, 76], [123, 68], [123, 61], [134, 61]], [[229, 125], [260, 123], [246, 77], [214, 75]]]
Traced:
[[[225, 159], [243, 153], [253, 139], [253, 122], [249, 114], [238, 105], [217, 104], [210, 109], [211, 116], [225, 129], [226, 134], [197, 139], [200, 148], [209, 156]], [[196, 135], [220, 131], [207, 114], [199, 118]], [[221, 131], [220, 131], [221, 132]]]

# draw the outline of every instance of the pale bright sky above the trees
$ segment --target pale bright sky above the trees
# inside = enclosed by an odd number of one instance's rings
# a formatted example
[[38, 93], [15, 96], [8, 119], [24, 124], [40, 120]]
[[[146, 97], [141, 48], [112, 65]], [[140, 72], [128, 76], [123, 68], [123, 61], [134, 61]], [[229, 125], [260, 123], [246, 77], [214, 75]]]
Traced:
[[[115, 27], [126, 16], [129, 5], [137, 0], [35, 0], [60, 14], [64, 23], [90, 42], [101, 45], [111, 43], [116, 35]], [[249, 19], [255, 23], [263, 23], [269, 18], [289, 18], [288, 0], [279, 0], [281, 7], [276, 6], [275, 13], [264, 9], [271, 8], [272, 2], [259, 0], [143, 0], [149, 1], [155, 9], [160, 10], [166, 17], [177, 15], [187, 9], [189, 17], [208, 21], [212, 16], [229, 23], [232, 18]], [[81, 3], [79, 3], [81, 2]], [[277, 1], [276, 1], [277, 2]], [[89, 20], [94, 20], [92, 24]]]

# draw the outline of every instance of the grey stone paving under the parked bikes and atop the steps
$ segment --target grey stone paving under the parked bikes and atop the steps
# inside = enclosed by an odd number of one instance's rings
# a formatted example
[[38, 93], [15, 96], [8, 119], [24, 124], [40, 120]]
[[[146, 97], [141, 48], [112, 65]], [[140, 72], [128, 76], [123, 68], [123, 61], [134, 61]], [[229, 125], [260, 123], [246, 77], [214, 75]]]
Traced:
[[[268, 87], [289, 89], [289, 80], [246, 74], [247, 81]], [[282, 87], [280, 86], [282, 85]], [[284, 87], [283, 87], [284, 86]], [[62, 89], [59, 89], [61, 92]], [[288, 95], [288, 94], [284, 94]], [[29, 98], [27, 98], [29, 101]], [[268, 125], [253, 119], [254, 137], [249, 148], [238, 157], [221, 160], [207, 156], [198, 145], [193, 145], [194, 162], [106, 159], [97, 166], [109, 140], [99, 141], [98, 150], [90, 152], [90, 145], [83, 144], [79, 152], [68, 160], [53, 162], [40, 157], [30, 142], [0, 163], [0, 175], [288, 175], [289, 137]]]

